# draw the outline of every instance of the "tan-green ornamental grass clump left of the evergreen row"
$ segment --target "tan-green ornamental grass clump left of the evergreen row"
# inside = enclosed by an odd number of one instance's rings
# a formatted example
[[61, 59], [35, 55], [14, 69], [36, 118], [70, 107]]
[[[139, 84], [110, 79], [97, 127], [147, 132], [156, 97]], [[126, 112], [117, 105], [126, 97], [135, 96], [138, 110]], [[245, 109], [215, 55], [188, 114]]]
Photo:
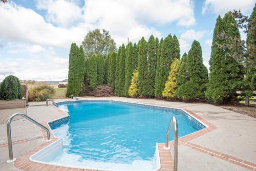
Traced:
[[28, 91], [29, 101], [46, 101], [54, 94], [54, 89], [50, 86], [36, 86]]

